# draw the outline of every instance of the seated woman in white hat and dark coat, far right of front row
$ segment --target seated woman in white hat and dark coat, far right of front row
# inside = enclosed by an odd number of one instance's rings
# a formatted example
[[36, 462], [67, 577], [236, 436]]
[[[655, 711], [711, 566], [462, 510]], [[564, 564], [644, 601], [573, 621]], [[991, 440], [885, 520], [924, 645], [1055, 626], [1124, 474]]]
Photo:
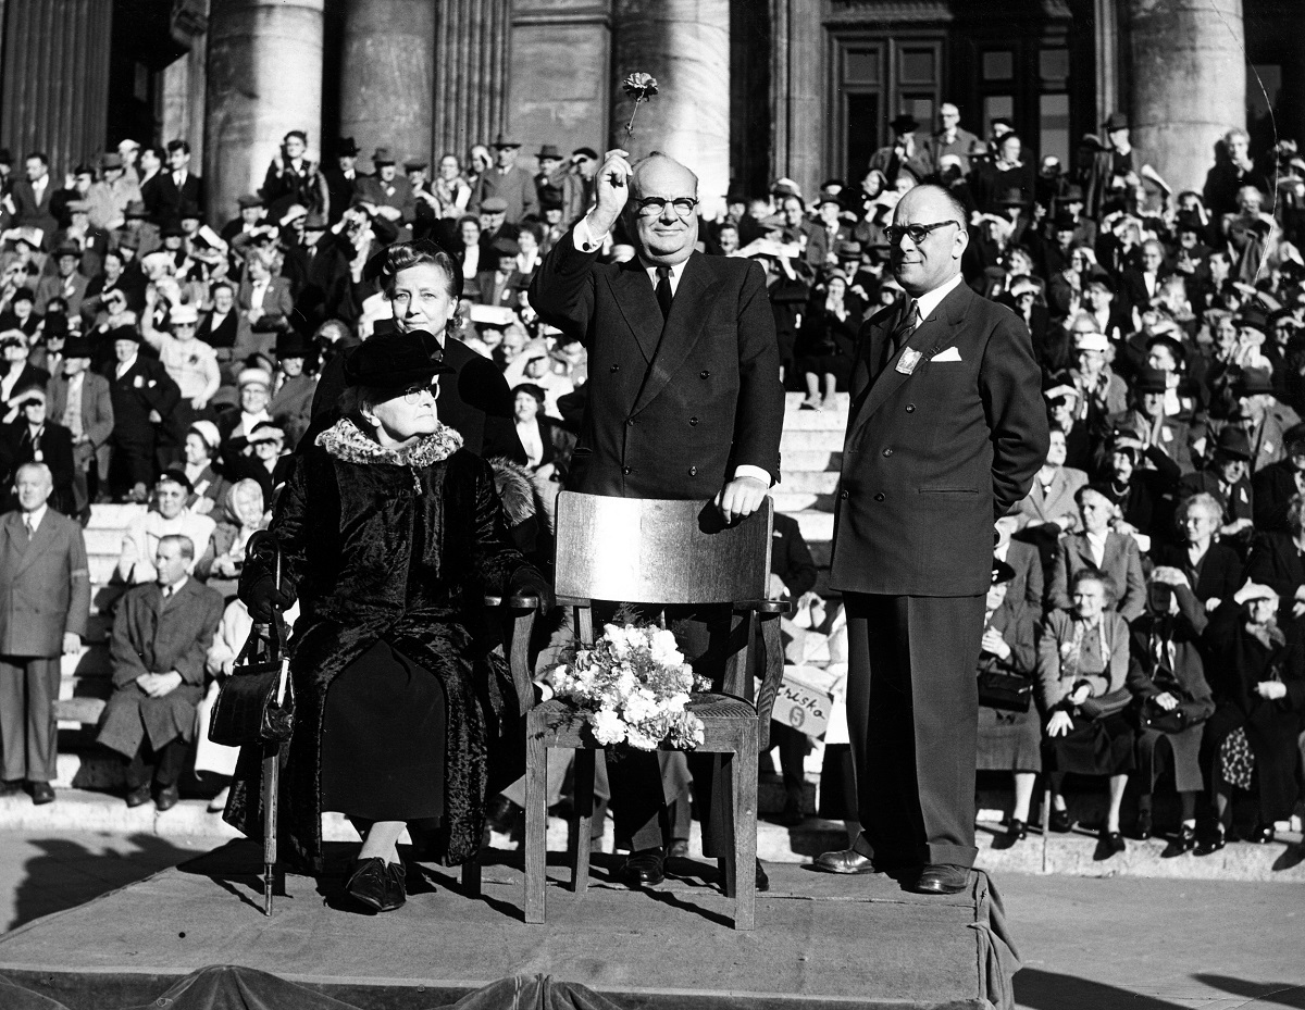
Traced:
[[1278, 594], [1257, 582], [1246, 582], [1210, 619], [1205, 645], [1215, 712], [1205, 753], [1218, 822], [1197, 844], [1198, 856], [1224, 847], [1235, 788], [1257, 793], [1258, 822], [1248, 842], [1271, 842], [1274, 822], [1291, 817], [1305, 710], [1301, 632], [1300, 621], [1279, 626]]

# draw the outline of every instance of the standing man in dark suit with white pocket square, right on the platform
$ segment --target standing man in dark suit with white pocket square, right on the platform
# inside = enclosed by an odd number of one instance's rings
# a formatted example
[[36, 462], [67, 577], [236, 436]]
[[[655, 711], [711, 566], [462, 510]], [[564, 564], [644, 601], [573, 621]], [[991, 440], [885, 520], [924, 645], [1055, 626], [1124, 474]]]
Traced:
[[830, 585], [847, 605], [861, 836], [833, 873], [903, 870], [954, 894], [975, 860], [975, 748], [993, 522], [1047, 457], [1028, 330], [962, 281], [964, 207], [907, 193], [889, 228], [908, 298], [861, 329]]

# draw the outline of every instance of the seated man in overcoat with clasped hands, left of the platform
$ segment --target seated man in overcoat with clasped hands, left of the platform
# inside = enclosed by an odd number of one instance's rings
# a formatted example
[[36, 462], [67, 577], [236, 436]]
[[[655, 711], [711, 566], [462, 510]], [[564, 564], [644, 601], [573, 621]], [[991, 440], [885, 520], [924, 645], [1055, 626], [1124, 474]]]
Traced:
[[176, 806], [194, 710], [204, 697], [204, 660], [222, 620], [222, 596], [191, 578], [194, 543], [158, 542], [151, 582], [123, 596], [114, 619], [114, 693], [99, 742], [127, 762], [127, 805]]

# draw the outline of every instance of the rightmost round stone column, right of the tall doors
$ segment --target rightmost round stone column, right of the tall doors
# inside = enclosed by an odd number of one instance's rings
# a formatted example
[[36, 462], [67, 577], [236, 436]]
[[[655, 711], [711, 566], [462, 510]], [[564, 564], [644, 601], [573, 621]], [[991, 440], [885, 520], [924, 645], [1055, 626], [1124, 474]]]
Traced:
[[1241, 0], [1125, 0], [1133, 142], [1173, 189], [1195, 189], [1214, 144], [1246, 125]]

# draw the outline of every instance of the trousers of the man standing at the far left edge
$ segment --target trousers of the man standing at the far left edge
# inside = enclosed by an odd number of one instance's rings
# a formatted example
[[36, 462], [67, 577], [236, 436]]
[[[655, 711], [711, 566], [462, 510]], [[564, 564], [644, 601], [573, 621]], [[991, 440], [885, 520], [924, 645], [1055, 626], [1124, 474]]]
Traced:
[[54, 782], [59, 656], [0, 656], [0, 749], [8, 782]]

